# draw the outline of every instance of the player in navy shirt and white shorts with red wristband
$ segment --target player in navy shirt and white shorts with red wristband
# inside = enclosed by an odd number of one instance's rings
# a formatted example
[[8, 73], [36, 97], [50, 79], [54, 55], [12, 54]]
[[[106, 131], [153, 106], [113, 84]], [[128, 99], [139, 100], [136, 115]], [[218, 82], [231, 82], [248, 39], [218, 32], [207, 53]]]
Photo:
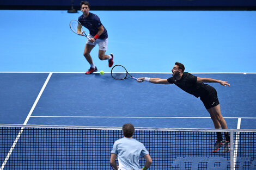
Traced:
[[[92, 56], [90, 56], [90, 52], [92, 49], [98, 45], [99, 46], [99, 59], [100, 60], [108, 60], [108, 66], [112, 67], [114, 64], [114, 55], [109, 54], [106, 55], [105, 52], [107, 51], [107, 45], [108, 45], [108, 35], [107, 35], [107, 29], [103, 26], [103, 24], [100, 21], [100, 18], [93, 14], [90, 11], [90, 4], [87, 1], [82, 1], [80, 3], [81, 5], [81, 11], [83, 12], [83, 15], [81, 15], [78, 18], [78, 21], [82, 24], [82, 26], [86, 27], [89, 30], [89, 38], [90, 40], [87, 40], [86, 47], [84, 47], [84, 57], [90, 64], [89, 70], [86, 72], [86, 74], [92, 74], [93, 72], [97, 71], [97, 67], [93, 63]], [[81, 33], [83, 35], [83, 33]]]

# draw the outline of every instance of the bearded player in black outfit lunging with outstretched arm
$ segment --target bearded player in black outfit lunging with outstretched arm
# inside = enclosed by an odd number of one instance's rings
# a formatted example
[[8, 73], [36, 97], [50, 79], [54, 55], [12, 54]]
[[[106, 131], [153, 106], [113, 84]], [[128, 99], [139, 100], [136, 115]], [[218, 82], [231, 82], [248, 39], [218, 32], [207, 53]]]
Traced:
[[[172, 69], [173, 77], [168, 79], [160, 78], [138, 78], [138, 82], [148, 81], [154, 84], [175, 84], [180, 87], [180, 89], [194, 95], [195, 97], [200, 97], [200, 100], [204, 103], [206, 110], [209, 112], [212, 121], [214, 122], [214, 127], [216, 129], [227, 129], [227, 123], [221, 115], [220, 103], [217, 97], [217, 91], [214, 87], [204, 84], [204, 83], [220, 83], [223, 86], [230, 86], [227, 81], [216, 80], [211, 78], [200, 78], [190, 73], [184, 72], [185, 67], [179, 62], [175, 62], [175, 66]], [[225, 140], [222, 138], [222, 133], [217, 132], [217, 141], [215, 143], [212, 153], [216, 153], [222, 146], [223, 153], [229, 152], [230, 150], [230, 136], [228, 133], [224, 133]]]

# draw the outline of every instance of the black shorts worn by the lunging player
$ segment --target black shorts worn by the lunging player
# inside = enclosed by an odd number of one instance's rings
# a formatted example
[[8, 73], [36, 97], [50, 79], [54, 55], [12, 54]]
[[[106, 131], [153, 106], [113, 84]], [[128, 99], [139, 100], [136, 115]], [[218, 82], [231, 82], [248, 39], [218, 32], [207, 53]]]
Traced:
[[202, 100], [206, 109], [213, 108], [220, 104], [220, 102], [218, 102], [217, 91], [212, 86], [208, 86], [205, 89], [204, 96], [201, 96], [200, 100]]

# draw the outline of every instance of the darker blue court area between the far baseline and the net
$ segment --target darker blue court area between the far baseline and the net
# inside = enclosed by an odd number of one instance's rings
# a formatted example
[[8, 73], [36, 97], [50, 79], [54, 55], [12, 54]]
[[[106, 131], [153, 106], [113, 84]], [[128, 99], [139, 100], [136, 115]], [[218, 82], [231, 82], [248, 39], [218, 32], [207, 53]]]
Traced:
[[[135, 77], [171, 76], [163, 73], [133, 74]], [[28, 118], [27, 124], [120, 127], [124, 122], [131, 122], [136, 127], [214, 128], [202, 102], [175, 85], [137, 83], [132, 79], [117, 81], [109, 73], [0, 75], [4, 98], [1, 123], [23, 124]], [[255, 74], [196, 75], [228, 79], [230, 87], [212, 84], [218, 91], [222, 115], [228, 127], [256, 128], [256, 94], [251, 90]]]

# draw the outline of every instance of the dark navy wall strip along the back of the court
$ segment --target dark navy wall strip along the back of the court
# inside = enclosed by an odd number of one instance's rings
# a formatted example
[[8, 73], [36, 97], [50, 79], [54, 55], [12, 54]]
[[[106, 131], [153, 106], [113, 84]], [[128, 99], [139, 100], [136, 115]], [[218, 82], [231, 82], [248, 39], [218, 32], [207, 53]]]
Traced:
[[[1, 0], [1, 9], [79, 9], [81, 0]], [[255, 10], [255, 0], [94, 0], [95, 10]]]

